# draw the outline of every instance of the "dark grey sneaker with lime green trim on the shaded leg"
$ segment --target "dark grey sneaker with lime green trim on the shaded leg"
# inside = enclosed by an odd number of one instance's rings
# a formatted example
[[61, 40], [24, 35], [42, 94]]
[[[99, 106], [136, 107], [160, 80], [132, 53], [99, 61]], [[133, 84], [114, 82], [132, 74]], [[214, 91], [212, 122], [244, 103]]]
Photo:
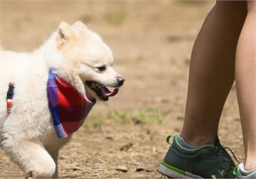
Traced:
[[[170, 139], [168, 136], [166, 142]], [[235, 178], [233, 168], [235, 163], [218, 138], [214, 145], [188, 149], [178, 143], [178, 136], [174, 136], [174, 142], [157, 170], [169, 178]]]

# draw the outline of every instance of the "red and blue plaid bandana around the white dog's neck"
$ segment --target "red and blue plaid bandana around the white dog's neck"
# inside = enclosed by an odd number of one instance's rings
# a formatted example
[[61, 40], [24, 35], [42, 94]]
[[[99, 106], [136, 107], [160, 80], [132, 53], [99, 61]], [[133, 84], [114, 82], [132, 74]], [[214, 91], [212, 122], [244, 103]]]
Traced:
[[72, 85], [49, 71], [47, 82], [48, 106], [59, 139], [78, 131], [95, 102], [91, 102]]

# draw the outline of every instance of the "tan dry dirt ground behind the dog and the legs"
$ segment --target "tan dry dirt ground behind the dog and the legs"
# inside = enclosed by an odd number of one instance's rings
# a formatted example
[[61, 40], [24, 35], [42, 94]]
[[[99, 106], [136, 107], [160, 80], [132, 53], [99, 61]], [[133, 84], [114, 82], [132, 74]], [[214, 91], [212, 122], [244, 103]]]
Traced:
[[[4, 48], [33, 50], [60, 21], [80, 20], [110, 45], [114, 66], [126, 78], [119, 94], [97, 104], [86, 121], [96, 122], [83, 126], [61, 149], [60, 178], [160, 178], [156, 168], [169, 148], [165, 138], [178, 134], [183, 123], [193, 41], [213, 5], [214, 1], [0, 1]], [[156, 109], [169, 114], [158, 121], [122, 121], [125, 115]], [[114, 112], [123, 115], [121, 120], [109, 115]], [[242, 160], [234, 87], [219, 134], [223, 145]], [[0, 149], [0, 178], [21, 177], [21, 169]]]

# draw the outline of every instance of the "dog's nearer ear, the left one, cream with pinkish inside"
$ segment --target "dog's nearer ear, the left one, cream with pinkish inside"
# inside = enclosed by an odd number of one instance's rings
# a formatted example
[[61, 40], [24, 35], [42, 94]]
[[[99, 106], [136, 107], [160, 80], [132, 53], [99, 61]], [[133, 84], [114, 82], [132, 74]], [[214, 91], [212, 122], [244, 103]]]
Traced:
[[57, 43], [58, 43], [58, 48], [60, 49], [65, 45], [65, 43], [68, 42], [71, 38], [73, 38], [74, 33], [73, 29], [70, 27], [70, 25], [66, 22], [61, 22], [60, 25], [58, 26], [58, 34], [57, 34]]

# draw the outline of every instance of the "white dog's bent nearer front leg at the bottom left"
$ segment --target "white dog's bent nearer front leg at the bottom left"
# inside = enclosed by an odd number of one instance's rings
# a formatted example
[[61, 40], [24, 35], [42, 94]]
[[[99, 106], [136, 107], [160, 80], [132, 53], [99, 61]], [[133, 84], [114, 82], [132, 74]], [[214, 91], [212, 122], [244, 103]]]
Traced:
[[38, 143], [31, 141], [21, 142], [18, 145], [9, 143], [4, 149], [11, 155], [13, 161], [23, 168], [26, 178], [53, 178], [55, 162], [46, 149]]

